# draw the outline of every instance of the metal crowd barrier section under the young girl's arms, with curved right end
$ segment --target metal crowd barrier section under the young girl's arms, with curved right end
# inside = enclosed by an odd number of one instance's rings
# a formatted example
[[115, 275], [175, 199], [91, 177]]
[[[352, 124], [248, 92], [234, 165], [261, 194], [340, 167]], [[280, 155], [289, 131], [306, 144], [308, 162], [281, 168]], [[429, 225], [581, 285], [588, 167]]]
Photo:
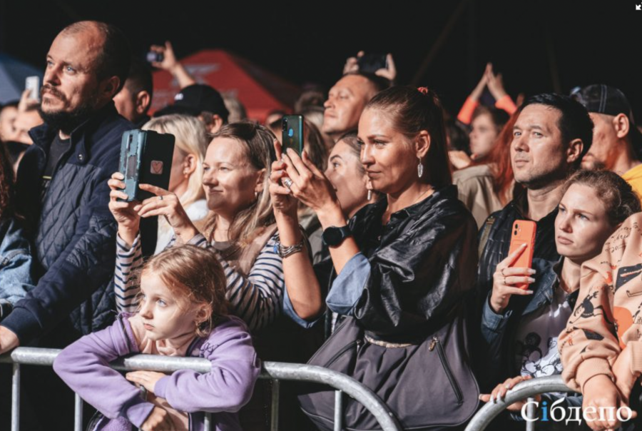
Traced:
[[[51, 366], [60, 353], [58, 349], [16, 348], [10, 353], [0, 355], [0, 362], [12, 363], [13, 382], [11, 385], [11, 431], [20, 430], [20, 365]], [[209, 372], [210, 361], [204, 358], [176, 358], [159, 355], [133, 355], [111, 363], [120, 371], [149, 370], [174, 372], [189, 368], [198, 372]], [[270, 430], [277, 431], [279, 425], [280, 380], [314, 382], [335, 388], [335, 431], [343, 429], [342, 405], [344, 394], [349, 395], [369, 410], [377, 420], [382, 431], [401, 431], [402, 428], [387, 405], [372, 390], [352, 377], [340, 372], [327, 370], [315, 365], [290, 364], [285, 362], [263, 362], [261, 379], [272, 380], [272, 419]], [[76, 394], [74, 408], [74, 431], [83, 431], [83, 400]], [[210, 431], [211, 420], [205, 414], [205, 430]]]

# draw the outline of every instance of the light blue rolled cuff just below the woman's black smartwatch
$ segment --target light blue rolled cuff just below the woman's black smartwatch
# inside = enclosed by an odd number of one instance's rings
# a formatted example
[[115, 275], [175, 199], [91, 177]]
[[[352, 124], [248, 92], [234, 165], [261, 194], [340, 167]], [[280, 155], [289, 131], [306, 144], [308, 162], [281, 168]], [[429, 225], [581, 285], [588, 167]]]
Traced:
[[362, 253], [352, 256], [337, 275], [325, 302], [328, 308], [341, 315], [353, 315], [370, 275], [370, 262]]

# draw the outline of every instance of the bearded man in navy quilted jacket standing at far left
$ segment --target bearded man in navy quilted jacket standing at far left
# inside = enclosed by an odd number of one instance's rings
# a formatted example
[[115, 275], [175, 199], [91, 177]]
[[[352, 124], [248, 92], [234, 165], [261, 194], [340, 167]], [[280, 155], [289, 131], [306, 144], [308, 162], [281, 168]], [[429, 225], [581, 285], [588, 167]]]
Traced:
[[36, 287], [0, 326], [0, 353], [39, 339], [62, 347], [113, 320], [116, 222], [107, 180], [133, 125], [113, 106], [131, 54], [108, 24], [63, 29], [49, 49], [41, 89], [45, 124], [21, 162], [17, 201], [34, 235]]

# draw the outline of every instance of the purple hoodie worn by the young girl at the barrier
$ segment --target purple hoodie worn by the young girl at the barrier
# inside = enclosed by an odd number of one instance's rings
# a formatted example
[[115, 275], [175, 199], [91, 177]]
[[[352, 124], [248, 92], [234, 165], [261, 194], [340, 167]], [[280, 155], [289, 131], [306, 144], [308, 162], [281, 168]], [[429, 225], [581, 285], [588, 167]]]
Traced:
[[[62, 380], [112, 419], [99, 422], [95, 430], [128, 430], [123, 419], [141, 427], [155, 407], [143, 400], [136, 386], [108, 365], [122, 356], [139, 353], [130, 316], [119, 315], [111, 327], [84, 336], [54, 361], [54, 370]], [[215, 413], [214, 430], [241, 431], [236, 412], [250, 400], [260, 373], [260, 361], [245, 323], [233, 316], [220, 320], [208, 338], [196, 338], [188, 354], [210, 360], [212, 370], [206, 374], [175, 371], [158, 380], [156, 396], [165, 398], [176, 410], [190, 414], [190, 431], [203, 430], [202, 411]]]

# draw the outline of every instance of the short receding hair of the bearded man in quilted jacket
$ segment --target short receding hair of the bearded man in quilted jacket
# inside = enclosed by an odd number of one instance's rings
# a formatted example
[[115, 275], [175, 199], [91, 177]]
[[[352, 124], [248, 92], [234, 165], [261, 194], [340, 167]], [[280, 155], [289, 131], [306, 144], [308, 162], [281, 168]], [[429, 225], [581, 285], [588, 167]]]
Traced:
[[131, 49], [123, 31], [113, 24], [100, 21], [78, 21], [63, 29], [62, 33], [75, 34], [88, 29], [96, 29], [105, 38], [103, 49], [96, 57], [96, 75], [102, 81], [111, 76], [118, 76], [121, 85], [116, 88], [116, 93], [125, 85], [131, 62]]

